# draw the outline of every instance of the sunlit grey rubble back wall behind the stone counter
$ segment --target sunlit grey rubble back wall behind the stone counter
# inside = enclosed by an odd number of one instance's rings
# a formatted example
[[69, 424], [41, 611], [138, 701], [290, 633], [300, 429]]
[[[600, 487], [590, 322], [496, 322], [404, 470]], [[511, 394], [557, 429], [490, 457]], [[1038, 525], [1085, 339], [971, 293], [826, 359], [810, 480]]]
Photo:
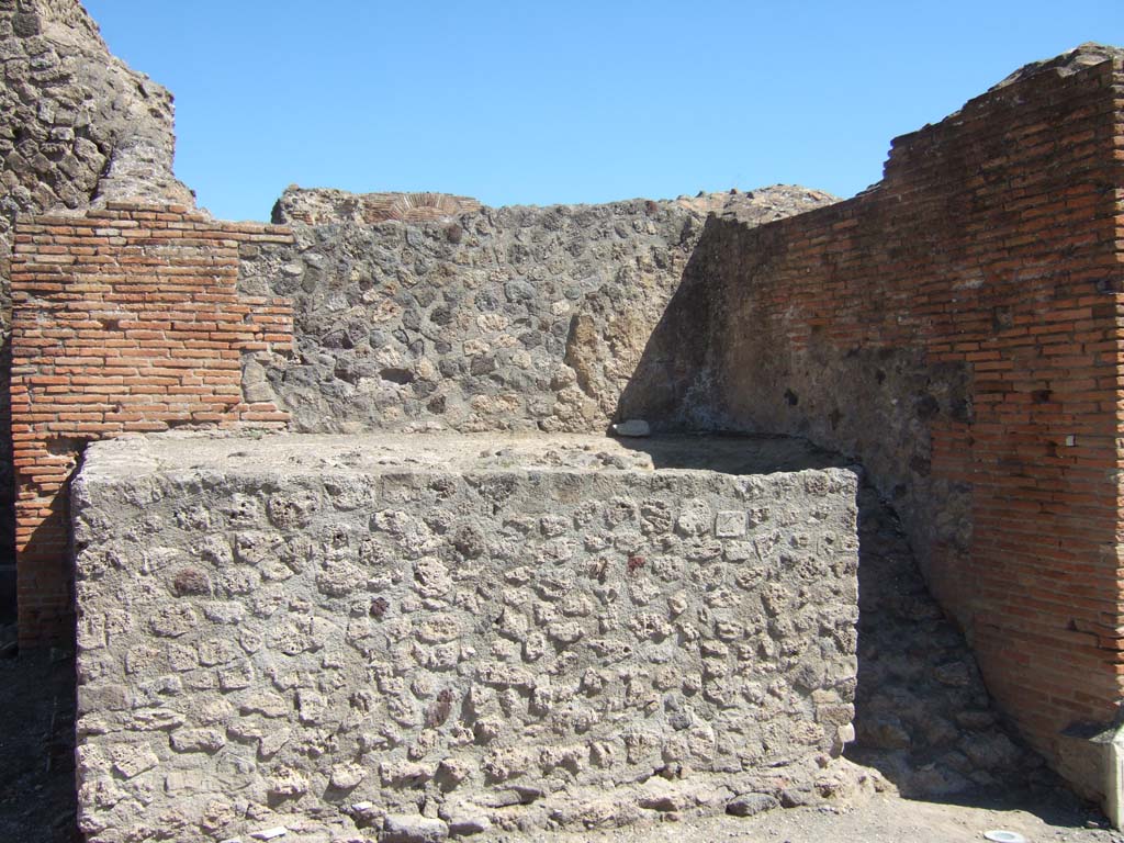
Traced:
[[392, 196], [290, 189], [274, 218], [296, 244], [244, 253], [244, 291], [293, 301], [297, 359], [250, 379], [298, 430], [604, 430], [626, 383], [668, 392], [662, 361], [637, 364], [707, 211], [761, 223], [832, 200], [786, 187], [549, 208]]

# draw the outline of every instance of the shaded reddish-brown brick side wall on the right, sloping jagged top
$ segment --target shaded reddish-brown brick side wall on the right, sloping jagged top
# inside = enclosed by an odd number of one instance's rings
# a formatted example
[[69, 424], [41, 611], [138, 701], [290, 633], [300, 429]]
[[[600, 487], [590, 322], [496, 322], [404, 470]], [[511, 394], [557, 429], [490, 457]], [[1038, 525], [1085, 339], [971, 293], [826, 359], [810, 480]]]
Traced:
[[1122, 697], [1122, 81], [1079, 51], [898, 138], [855, 199], [710, 220], [650, 345], [686, 337], [698, 366], [669, 422], [701, 407], [863, 463], [1063, 769], [1059, 732]]

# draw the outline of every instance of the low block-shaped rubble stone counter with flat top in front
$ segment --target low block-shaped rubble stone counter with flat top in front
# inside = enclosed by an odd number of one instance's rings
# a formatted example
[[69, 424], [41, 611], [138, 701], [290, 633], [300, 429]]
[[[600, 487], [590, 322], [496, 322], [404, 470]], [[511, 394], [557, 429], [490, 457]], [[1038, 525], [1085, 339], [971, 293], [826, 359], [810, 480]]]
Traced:
[[425, 840], [827, 794], [854, 498], [790, 439], [93, 444], [81, 826]]

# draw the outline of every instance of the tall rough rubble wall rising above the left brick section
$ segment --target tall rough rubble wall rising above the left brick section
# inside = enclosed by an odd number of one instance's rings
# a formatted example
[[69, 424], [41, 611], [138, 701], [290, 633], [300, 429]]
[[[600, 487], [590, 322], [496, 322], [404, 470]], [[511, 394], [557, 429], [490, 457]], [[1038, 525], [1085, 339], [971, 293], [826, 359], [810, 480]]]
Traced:
[[[20, 214], [125, 197], [191, 205], [172, 176], [171, 94], [109, 54], [78, 0], [0, 0], [0, 370], [7, 373], [12, 228]], [[0, 624], [15, 610], [13, 478], [0, 379]]]

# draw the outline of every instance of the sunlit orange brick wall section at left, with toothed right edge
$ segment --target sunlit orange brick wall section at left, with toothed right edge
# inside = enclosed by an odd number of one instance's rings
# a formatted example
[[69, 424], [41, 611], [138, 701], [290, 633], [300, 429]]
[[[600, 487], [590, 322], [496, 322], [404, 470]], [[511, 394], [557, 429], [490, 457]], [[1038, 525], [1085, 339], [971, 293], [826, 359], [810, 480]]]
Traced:
[[243, 400], [242, 361], [285, 353], [284, 299], [239, 296], [238, 252], [275, 226], [110, 203], [17, 226], [11, 266], [19, 634], [72, 634], [67, 481], [84, 443], [172, 427], [282, 427]]

